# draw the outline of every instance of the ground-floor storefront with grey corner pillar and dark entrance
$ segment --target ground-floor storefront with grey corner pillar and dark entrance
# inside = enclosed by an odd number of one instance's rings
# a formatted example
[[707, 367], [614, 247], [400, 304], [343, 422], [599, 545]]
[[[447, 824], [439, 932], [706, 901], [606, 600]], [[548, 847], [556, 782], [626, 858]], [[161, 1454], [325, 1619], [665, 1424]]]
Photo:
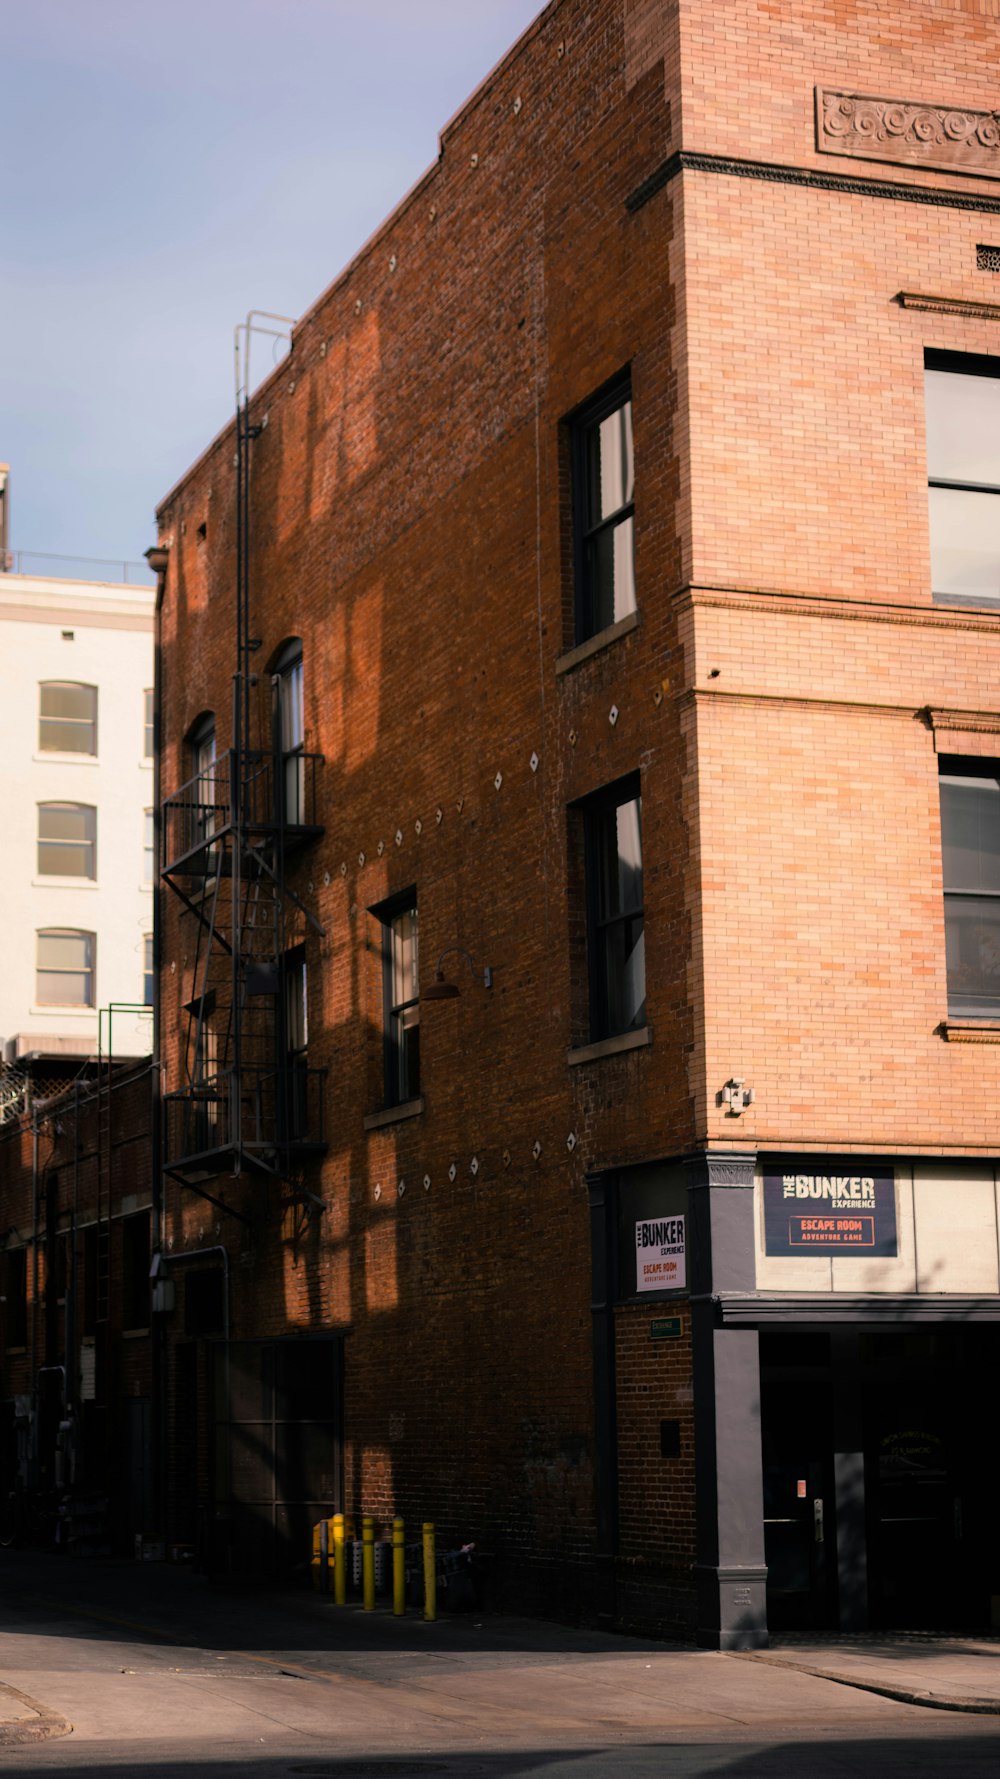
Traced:
[[600, 1452], [601, 1306], [642, 1265], [641, 1219], [667, 1238], [685, 1220], [683, 1284], [655, 1295], [690, 1313], [706, 1647], [1000, 1622], [998, 1203], [993, 1162], [941, 1156], [717, 1151], [591, 1181]]

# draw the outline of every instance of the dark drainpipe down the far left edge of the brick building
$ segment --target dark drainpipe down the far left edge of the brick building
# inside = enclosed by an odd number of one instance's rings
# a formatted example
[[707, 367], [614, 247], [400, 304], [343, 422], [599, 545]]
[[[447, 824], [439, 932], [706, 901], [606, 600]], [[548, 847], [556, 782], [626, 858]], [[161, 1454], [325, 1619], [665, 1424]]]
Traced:
[[[149, 1169], [151, 1169], [151, 1206], [153, 1206], [153, 1249], [162, 1252], [164, 1249], [164, 1096], [162, 1096], [162, 1046], [160, 1046], [160, 857], [162, 857], [162, 765], [160, 765], [160, 745], [162, 745], [162, 720], [160, 720], [160, 703], [162, 703], [162, 610], [164, 610], [164, 587], [167, 580], [167, 562], [169, 550], [164, 544], [155, 546], [146, 551], [146, 560], [157, 576], [157, 616], [155, 616], [155, 635], [153, 635], [153, 847], [155, 847], [155, 870], [153, 870], [153, 1067], [149, 1071]], [[151, 1375], [149, 1375], [149, 1397], [151, 1397], [151, 1429], [149, 1429], [149, 1471], [153, 1477], [153, 1525], [157, 1535], [165, 1535], [165, 1501], [167, 1501], [167, 1478], [165, 1478], [165, 1452], [167, 1452], [167, 1393], [165, 1393], [165, 1347], [167, 1347], [167, 1329], [162, 1315], [151, 1316], [153, 1341], [151, 1341]]]

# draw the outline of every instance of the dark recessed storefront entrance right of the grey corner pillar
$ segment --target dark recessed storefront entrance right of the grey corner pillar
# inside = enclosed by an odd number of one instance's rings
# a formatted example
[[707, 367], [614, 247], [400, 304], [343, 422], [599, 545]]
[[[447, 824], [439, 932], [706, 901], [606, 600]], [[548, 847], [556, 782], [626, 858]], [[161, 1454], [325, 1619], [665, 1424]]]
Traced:
[[760, 1336], [772, 1630], [989, 1628], [1000, 1327]]

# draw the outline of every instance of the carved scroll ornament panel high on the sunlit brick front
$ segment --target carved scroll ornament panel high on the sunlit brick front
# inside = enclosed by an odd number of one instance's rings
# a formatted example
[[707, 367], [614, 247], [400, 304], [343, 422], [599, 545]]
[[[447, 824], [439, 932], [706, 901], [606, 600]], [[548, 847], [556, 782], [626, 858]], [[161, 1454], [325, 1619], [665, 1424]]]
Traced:
[[817, 148], [824, 155], [897, 160], [1000, 180], [1000, 112], [817, 87]]

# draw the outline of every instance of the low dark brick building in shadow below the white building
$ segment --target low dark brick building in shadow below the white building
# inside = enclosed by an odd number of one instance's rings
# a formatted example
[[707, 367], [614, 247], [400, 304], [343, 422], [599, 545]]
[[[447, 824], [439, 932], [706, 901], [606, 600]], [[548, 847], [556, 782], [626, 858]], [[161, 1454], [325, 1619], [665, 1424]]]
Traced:
[[0, 1119], [4, 1526], [132, 1555], [158, 1523], [149, 1060], [101, 1064]]

